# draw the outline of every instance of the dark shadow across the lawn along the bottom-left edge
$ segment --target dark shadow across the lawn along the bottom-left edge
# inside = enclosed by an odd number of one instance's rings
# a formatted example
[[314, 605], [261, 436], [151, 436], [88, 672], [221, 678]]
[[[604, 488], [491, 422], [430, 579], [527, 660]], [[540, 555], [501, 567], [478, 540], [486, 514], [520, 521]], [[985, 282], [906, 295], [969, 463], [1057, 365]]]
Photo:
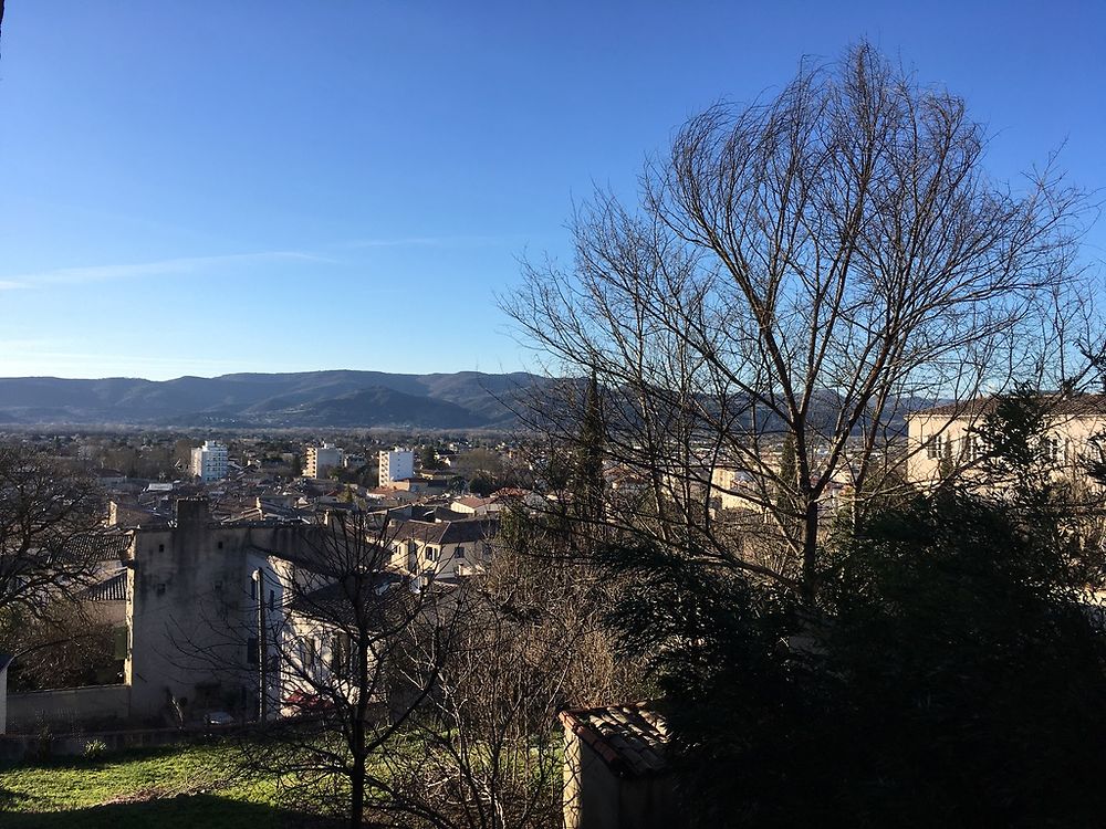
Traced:
[[0, 812], [4, 829], [337, 829], [345, 821], [216, 795], [106, 804], [38, 814]]

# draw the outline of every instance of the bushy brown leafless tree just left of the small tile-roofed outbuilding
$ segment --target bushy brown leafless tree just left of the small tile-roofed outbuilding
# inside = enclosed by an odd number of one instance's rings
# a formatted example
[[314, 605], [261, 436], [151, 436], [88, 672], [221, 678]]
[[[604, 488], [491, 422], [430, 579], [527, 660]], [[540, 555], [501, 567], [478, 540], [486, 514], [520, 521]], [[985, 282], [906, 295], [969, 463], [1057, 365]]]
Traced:
[[528, 547], [501, 550], [487, 576], [441, 597], [461, 620], [450, 637], [436, 636], [434, 616], [414, 628], [411, 681], [436, 680], [401, 747], [380, 755], [382, 818], [441, 829], [560, 826], [556, 714], [637, 690], [602, 625], [602, 581]]

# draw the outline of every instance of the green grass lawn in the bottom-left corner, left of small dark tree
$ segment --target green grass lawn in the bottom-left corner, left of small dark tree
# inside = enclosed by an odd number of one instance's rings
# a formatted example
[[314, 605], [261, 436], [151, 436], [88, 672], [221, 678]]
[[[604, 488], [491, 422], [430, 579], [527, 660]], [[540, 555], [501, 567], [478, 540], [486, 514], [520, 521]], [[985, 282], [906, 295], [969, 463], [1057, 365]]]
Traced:
[[237, 770], [232, 745], [164, 746], [0, 765], [0, 826], [262, 829], [315, 827], [317, 819], [278, 808], [271, 780]]

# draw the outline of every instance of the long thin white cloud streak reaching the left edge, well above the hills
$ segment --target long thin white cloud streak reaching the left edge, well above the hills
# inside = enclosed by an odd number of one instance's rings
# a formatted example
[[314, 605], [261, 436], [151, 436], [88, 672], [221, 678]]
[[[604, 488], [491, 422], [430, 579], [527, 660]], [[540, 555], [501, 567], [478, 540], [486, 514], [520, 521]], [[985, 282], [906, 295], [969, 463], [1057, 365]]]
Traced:
[[301, 251], [262, 251], [258, 253], [229, 253], [213, 256], [181, 256], [154, 262], [129, 264], [58, 267], [36, 273], [20, 273], [0, 280], [0, 290], [44, 285], [81, 285], [90, 282], [138, 279], [143, 276], [187, 275], [215, 267], [263, 262], [334, 263], [334, 260]]

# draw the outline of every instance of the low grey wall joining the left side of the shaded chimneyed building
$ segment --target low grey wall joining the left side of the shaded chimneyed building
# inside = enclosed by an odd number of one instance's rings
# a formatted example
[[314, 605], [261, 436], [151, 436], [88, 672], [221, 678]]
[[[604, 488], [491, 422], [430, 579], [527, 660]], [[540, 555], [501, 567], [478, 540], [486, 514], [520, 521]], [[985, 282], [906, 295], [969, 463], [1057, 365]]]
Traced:
[[131, 716], [129, 685], [62, 688], [8, 694], [9, 734], [76, 731], [86, 724], [125, 721]]

